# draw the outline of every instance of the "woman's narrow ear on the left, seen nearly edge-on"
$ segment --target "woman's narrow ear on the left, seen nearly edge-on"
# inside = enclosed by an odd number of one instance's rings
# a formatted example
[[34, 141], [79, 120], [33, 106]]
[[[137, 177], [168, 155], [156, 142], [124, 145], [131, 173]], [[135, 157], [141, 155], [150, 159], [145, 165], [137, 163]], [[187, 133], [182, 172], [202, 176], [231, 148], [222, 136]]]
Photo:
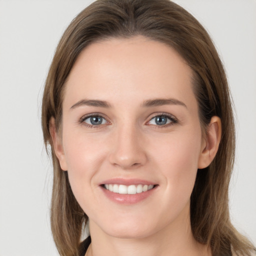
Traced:
[[49, 121], [49, 131], [50, 131], [50, 136], [51, 136], [53, 147], [54, 147], [54, 152], [58, 158], [60, 167], [62, 170], [67, 170], [67, 164], [66, 164], [65, 154], [64, 154], [63, 145], [62, 145], [62, 139], [59, 137], [59, 134], [57, 134], [56, 132], [55, 119], [53, 117], [51, 117]]

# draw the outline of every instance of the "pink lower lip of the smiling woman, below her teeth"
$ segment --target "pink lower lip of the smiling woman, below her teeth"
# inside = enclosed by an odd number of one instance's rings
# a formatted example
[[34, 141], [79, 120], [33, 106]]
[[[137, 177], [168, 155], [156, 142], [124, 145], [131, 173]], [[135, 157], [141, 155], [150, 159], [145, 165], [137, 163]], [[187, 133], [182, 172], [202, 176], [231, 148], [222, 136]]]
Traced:
[[140, 202], [146, 199], [148, 196], [150, 196], [155, 191], [156, 187], [157, 186], [154, 186], [150, 190], [136, 194], [119, 194], [111, 192], [105, 189], [104, 187], [100, 186], [100, 188], [102, 189], [103, 193], [106, 195], [107, 198], [109, 198], [111, 201], [120, 204], [134, 204]]

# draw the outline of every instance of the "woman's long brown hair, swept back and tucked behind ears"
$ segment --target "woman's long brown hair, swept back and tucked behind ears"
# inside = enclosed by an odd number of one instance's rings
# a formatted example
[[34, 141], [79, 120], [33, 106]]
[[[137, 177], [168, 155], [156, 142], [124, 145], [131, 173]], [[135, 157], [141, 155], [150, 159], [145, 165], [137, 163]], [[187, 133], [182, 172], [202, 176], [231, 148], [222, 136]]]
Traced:
[[202, 25], [169, 0], [97, 0], [70, 23], [56, 48], [42, 99], [44, 143], [51, 146], [53, 188], [51, 229], [61, 255], [78, 254], [87, 216], [71, 191], [66, 171], [54, 153], [49, 120], [61, 126], [65, 80], [81, 50], [112, 37], [142, 35], [174, 48], [193, 70], [193, 89], [203, 132], [213, 115], [221, 119], [222, 136], [211, 164], [198, 169], [190, 200], [194, 238], [213, 255], [250, 255], [255, 248], [230, 223], [228, 184], [234, 161], [235, 132], [229, 88], [216, 49]]

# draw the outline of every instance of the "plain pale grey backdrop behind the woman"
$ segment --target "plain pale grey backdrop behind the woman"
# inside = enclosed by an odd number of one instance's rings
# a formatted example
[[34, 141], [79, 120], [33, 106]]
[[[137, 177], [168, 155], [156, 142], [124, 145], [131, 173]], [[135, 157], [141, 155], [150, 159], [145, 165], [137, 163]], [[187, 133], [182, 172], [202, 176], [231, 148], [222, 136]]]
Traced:
[[[0, 0], [0, 256], [57, 255], [40, 100], [61, 34], [90, 2]], [[237, 128], [230, 214], [256, 243], [256, 1], [176, 2], [207, 28], [228, 75]]]

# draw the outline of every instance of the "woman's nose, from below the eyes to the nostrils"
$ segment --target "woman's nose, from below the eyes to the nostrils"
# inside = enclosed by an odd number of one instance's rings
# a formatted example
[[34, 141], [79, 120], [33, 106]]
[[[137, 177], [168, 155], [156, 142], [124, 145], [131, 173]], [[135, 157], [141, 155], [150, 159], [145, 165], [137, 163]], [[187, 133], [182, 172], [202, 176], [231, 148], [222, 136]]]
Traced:
[[145, 144], [134, 126], [123, 125], [114, 132], [109, 161], [122, 169], [133, 169], [146, 162]]

